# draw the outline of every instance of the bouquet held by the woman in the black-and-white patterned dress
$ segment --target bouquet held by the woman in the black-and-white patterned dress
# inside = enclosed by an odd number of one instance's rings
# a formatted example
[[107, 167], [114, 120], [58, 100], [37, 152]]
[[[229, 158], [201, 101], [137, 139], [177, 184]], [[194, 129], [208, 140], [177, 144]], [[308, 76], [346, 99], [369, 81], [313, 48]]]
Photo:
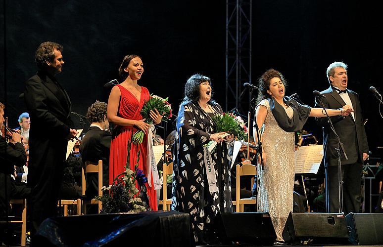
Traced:
[[215, 132], [227, 132], [233, 134], [239, 140], [247, 137], [247, 127], [241, 117], [233, 113], [217, 114], [212, 118], [215, 124]]

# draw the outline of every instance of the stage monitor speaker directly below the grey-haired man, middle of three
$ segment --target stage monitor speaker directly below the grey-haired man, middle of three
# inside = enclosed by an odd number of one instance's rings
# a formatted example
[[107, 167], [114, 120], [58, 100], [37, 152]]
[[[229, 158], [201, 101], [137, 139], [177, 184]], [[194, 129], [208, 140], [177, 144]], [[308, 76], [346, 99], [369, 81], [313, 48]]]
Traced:
[[287, 243], [349, 244], [342, 213], [291, 213], [282, 236]]

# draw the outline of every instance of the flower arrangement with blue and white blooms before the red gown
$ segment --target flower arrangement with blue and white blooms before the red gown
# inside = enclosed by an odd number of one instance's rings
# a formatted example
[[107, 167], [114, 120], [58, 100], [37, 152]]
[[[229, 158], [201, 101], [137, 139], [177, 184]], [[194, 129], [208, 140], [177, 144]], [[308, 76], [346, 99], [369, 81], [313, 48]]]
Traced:
[[[102, 187], [101, 190], [104, 191], [104, 194], [95, 198], [102, 202], [101, 213], [133, 213], [150, 210], [145, 186], [147, 178], [143, 170], [138, 168], [141, 152], [138, 151], [137, 163], [133, 171], [129, 168], [129, 151], [130, 143], [128, 143], [125, 171], [118, 174], [109, 187]], [[141, 191], [136, 188], [136, 183], [140, 186]], [[109, 193], [105, 193], [107, 190], [109, 190]]]

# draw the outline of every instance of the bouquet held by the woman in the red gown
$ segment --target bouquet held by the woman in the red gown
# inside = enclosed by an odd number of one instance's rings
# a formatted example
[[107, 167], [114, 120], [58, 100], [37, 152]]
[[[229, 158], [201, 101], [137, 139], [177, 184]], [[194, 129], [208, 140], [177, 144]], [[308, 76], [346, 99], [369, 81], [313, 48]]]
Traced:
[[[172, 107], [168, 102], [168, 97], [161, 98], [157, 95], [150, 94], [150, 98], [145, 102], [143, 109], [141, 110], [141, 115], [145, 119], [145, 123], [152, 124], [153, 120], [150, 118], [150, 110], [154, 111], [157, 109], [160, 115], [162, 115], [162, 121], [170, 119], [172, 117]], [[144, 131], [139, 130], [132, 136], [132, 141], [135, 144], [143, 143]]]

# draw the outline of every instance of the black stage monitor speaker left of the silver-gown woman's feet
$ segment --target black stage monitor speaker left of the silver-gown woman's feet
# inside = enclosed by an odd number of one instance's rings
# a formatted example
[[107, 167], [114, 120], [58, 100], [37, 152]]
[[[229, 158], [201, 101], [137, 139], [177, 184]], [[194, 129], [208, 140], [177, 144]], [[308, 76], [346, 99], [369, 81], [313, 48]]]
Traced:
[[[214, 236], [214, 237], [212, 237]], [[277, 235], [269, 213], [218, 213], [210, 231], [213, 244], [273, 245]]]

